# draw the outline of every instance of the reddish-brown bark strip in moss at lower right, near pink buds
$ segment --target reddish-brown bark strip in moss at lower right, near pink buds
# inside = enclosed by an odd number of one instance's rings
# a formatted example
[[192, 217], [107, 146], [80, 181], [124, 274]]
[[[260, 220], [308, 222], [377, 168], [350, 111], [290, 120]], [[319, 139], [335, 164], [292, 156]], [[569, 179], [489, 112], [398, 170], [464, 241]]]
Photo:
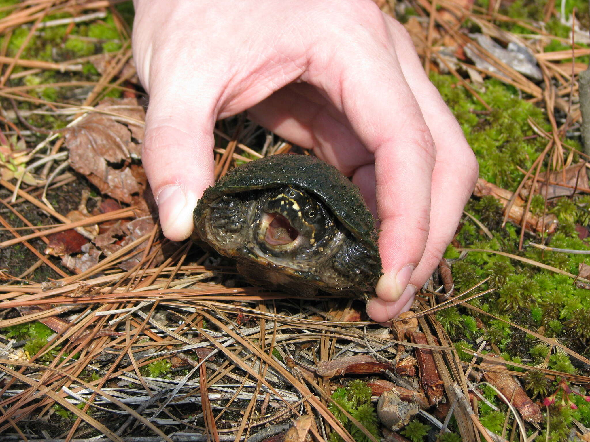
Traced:
[[[502, 359], [501, 357], [498, 358]], [[530, 400], [520, 383], [506, 372], [506, 365], [500, 362], [481, 362], [480, 365], [482, 368], [489, 367], [495, 370], [483, 370], [484, 378], [496, 387], [508, 401], [512, 400], [512, 405], [519, 411], [524, 420], [529, 422], [543, 420], [539, 405]]]

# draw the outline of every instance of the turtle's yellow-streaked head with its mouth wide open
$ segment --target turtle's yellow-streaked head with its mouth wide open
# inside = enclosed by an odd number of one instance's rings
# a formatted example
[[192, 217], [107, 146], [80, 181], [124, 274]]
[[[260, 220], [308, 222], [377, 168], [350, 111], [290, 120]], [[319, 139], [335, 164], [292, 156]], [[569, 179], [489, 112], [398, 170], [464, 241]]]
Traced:
[[324, 209], [303, 190], [286, 186], [268, 193], [263, 203], [264, 241], [273, 249], [313, 246], [326, 233]]

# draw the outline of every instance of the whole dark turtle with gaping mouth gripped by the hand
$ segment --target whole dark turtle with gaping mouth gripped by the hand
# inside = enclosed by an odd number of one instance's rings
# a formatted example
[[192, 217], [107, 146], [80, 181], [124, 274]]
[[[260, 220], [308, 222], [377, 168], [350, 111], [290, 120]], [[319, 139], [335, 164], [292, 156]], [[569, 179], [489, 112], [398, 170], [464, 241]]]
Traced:
[[316, 157], [273, 155], [231, 170], [205, 190], [194, 221], [194, 239], [237, 260], [257, 285], [375, 295], [375, 219], [358, 187]]

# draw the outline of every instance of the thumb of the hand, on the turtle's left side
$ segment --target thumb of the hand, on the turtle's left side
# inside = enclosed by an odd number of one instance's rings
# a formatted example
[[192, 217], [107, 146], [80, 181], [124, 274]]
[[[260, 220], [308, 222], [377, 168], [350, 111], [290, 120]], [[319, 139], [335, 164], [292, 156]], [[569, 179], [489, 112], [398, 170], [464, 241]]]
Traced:
[[191, 235], [196, 202], [214, 181], [215, 119], [199, 118], [211, 116], [206, 109], [194, 103], [152, 98], [146, 116], [143, 167], [164, 235], [173, 241]]

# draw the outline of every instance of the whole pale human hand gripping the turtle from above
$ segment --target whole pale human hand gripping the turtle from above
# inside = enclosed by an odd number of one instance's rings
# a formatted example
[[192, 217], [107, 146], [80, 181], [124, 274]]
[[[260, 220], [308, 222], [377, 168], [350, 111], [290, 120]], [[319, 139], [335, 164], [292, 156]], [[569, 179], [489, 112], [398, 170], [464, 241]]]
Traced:
[[367, 304], [412, 304], [477, 179], [460, 126], [404, 27], [371, 0], [135, 0], [150, 94], [143, 164], [165, 235], [188, 238], [214, 180], [215, 121], [244, 110], [358, 184], [379, 213], [383, 276]]

